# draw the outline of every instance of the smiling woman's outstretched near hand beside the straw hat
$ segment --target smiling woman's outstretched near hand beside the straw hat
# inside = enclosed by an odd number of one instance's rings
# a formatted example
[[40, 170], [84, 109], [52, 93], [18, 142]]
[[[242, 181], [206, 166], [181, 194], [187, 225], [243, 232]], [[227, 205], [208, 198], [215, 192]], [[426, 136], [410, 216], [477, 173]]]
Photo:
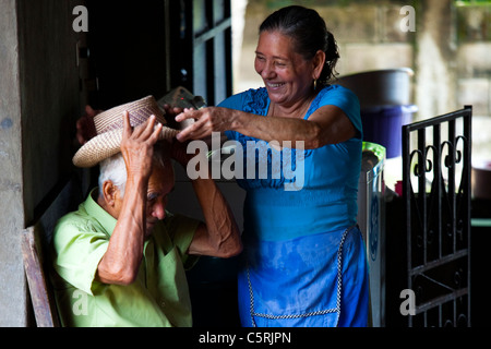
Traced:
[[184, 109], [176, 117], [176, 121], [194, 119], [195, 122], [182, 130], [176, 137], [179, 142], [188, 140], [203, 140], [212, 135], [212, 132], [230, 130], [232, 110], [219, 107], [207, 107], [200, 110]]

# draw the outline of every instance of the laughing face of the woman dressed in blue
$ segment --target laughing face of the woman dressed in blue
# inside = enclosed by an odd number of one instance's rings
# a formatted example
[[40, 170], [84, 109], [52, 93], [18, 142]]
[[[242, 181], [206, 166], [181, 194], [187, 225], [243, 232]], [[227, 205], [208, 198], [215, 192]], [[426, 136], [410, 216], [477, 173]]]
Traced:
[[261, 33], [254, 68], [270, 99], [278, 105], [289, 107], [311, 94], [314, 64], [297, 53], [292, 39], [279, 32]]

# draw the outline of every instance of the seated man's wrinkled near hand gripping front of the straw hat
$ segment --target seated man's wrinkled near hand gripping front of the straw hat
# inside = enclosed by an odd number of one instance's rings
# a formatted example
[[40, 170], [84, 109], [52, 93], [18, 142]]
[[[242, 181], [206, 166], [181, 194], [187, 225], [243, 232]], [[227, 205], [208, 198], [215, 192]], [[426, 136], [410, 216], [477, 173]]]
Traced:
[[142, 176], [148, 179], [152, 174], [152, 161], [154, 144], [158, 141], [163, 125], [155, 127], [155, 116], [146, 123], [132, 130], [128, 111], [123, 112], [123, 134], [121, 141], [121, 153], [127, 165], [128, 179], [133, 176]]

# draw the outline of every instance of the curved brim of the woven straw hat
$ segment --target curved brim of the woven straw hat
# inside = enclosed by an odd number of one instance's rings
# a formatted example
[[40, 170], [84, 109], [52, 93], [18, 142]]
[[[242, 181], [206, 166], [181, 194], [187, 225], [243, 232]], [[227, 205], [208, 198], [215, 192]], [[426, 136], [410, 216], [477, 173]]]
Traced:
[[[171, 141], [180, 131], [163, 127], [159, 140]], [[96, 135], [85, 143], [73, 156], [73, 165], [82, 168], [94, 167], [101, 160], [121, 152], [122, 129]]]

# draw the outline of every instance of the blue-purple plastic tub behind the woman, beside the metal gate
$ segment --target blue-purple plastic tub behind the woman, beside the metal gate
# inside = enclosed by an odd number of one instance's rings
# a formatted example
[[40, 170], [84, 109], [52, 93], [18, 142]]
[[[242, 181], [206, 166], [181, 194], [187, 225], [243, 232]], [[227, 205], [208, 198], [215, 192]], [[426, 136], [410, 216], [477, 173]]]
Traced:
[[412, 120], [418, 107], [388, 106], [361, 110], [363, 141], [383, 145], [386, 157], [398, 157], [403, 153], [403, 125]]

